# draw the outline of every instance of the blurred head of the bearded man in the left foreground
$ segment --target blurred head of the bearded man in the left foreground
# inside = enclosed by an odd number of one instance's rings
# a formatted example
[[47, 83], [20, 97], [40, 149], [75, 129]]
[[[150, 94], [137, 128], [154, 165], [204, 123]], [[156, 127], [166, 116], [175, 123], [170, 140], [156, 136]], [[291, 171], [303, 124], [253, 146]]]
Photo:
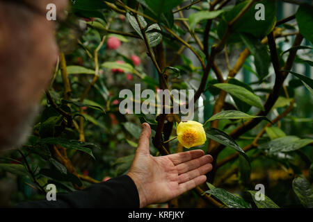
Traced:
[[0, 0], [0, 150], [19, 146], [58, 58], [54, 22], [46, 19], [47, 4], [57, 16], [67, 0]]

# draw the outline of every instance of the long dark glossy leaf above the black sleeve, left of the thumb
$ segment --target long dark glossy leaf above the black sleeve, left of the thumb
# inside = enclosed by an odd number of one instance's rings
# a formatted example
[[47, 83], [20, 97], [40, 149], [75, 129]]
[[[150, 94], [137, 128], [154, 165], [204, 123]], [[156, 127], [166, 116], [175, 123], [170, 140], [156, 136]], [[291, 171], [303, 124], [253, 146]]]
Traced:
[[93, 155], [93, 151], [86, 146], [93, 146], [97, 147], [97, 145], [93, 143], [86, 143], [86, 142], [79, 142], [73, 139], [65, 139], [60, 137], [47, 137], [45, 139], [40, 139], [38, 144], [50, 144], [50, 145], [59, 145], [63, 146], [64, 148], [70, 148], [73, 150], [83, 151], [84, 153], [88, 153], [91, 157], [95, 159]]

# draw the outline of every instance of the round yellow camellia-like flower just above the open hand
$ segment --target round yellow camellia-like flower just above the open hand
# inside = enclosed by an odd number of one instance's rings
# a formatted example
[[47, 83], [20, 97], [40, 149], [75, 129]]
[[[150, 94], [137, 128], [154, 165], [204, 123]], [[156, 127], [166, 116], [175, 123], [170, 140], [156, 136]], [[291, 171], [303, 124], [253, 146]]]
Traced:
[[191, 148], [204, 144], [207, 141], [207, 136], [201, 123], [186, 121], [178, 124], [177, 139], [182, 146]]

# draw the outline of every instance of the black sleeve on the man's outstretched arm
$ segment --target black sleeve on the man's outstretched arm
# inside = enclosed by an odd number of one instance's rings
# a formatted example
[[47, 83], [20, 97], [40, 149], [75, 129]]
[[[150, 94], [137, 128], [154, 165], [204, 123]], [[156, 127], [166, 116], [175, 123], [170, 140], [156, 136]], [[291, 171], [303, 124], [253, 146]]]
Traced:
[[70, 194], [56, 194], [56, 200], [19, 203], [18, 208], [106, 207], [138, 208], [139, 195], [134, 181], [119, 176]]

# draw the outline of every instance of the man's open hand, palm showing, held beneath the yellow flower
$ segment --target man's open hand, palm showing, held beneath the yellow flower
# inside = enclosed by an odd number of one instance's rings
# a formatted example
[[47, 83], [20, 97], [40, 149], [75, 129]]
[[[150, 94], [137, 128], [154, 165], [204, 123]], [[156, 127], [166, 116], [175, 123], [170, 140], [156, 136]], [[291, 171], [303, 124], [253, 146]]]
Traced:
[[150, 155], [151, 128], [143, 123], [136, 155], [127, 173], [138, 189], [140, 207], [163, 203], [201, 185], [212, 169], [211, 155], [202, 150], [154, 157]]

